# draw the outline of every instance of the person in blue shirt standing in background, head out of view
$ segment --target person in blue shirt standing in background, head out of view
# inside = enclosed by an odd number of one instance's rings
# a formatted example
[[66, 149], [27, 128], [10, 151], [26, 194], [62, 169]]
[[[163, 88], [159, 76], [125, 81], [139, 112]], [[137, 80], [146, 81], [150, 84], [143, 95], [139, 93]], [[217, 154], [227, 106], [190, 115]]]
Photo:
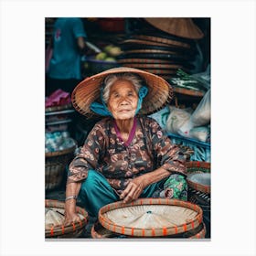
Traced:
[[86, 47], [86, 32], [78, 17], [59, 17], [51, 38], [52, 58], [49, 62], [46, 96], [61, 89], [71, 92], [80, 82], [81, 53]]

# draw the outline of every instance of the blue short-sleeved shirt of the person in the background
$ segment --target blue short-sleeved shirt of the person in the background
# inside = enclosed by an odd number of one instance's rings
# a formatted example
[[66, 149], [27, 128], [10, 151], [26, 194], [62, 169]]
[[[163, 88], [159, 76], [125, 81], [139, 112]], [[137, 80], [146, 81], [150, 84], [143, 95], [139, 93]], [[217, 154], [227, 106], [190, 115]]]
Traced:
[[49, 77], [62, 80], [81, 79], [78, 37], [86, 37], [80, 18], [60, 17], [56, 20]]

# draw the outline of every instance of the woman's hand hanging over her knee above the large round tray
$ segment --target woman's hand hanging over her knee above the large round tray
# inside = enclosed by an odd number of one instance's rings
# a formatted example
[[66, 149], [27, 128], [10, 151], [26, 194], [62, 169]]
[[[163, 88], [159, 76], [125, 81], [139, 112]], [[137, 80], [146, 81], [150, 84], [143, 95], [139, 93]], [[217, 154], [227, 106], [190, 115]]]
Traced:
[[145, 181], [145, 176], [133, 178], [120, 195], [120, 198], [123, 199], [123, 203], [130, 203], [140, 197], [146, 187]]

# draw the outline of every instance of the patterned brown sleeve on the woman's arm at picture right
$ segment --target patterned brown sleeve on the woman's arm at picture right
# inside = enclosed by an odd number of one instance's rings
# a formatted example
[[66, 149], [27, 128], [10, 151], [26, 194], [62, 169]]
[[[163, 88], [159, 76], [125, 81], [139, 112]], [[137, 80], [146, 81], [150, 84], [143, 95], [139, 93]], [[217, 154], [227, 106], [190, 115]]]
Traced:
[[155, 121], [149, 123], [149, 133], [157, 166], [161, 166], [171, 173], [187, 176], [187, 157], [179, 146], [172, 144], [170, 138]]

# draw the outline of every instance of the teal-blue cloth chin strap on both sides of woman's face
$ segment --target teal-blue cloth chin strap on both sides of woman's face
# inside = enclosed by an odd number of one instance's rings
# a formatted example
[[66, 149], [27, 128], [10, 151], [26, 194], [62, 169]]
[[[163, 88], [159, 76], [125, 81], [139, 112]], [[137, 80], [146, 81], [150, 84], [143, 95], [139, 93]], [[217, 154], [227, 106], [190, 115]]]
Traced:
[[[144, 97], [146, 96], [147, 92], [148, 92], [148, 89], [147, 89], [146, 86], [142, 86], [140, 88], [139, 93], [138, 93], [139, 100], [138, 100], [138, 105], [137, 105], [135, 114], [137, 114], [137, 112], [139, 112], [140, 109], [142, 108], [143, 100], [144, 100]], [[103, 90], [101, 88], [101, 102], [102, 102], [102, 104], [98, 103], [98, 102], [92, 102], [91, 106], [90, 106], [90, 109], [91, 109], [92, 112], [96, 112], [96, 113], [98, 113], [102, 116], [112, 116], [112, 112], [110, 112], [108, 110], [107, 105], [102, 100], [102, 94], [103, 94]]]

